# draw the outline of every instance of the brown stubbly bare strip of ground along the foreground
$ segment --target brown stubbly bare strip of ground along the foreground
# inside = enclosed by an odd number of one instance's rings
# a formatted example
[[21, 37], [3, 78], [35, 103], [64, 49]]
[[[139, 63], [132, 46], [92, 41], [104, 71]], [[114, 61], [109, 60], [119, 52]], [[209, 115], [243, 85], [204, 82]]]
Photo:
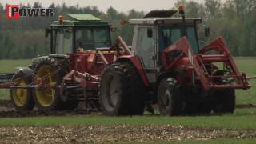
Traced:
[[182, 126], [4, 126], [2, 143], [72, 143], [209, 140], [256, 138], [254, 130], [203, 129]]

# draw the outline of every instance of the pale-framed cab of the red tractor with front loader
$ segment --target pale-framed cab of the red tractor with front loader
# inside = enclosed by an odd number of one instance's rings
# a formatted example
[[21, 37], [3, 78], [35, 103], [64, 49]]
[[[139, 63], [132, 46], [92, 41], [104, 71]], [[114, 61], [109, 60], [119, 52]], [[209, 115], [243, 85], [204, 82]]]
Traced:
[[[160, 70], [161, 54], [168, 46], [182, 37], [188, 38], [194, 54], [198, 54], [197, 25], [201, 18], [177, 18], [175, 10], [154, 10], [142, 19], [130, 19], [134, 25], [132, 51], [137, 54], [146, 70], [155, 82], [155, 71]], [[149, 76], [148, 76], [149, 77]]]

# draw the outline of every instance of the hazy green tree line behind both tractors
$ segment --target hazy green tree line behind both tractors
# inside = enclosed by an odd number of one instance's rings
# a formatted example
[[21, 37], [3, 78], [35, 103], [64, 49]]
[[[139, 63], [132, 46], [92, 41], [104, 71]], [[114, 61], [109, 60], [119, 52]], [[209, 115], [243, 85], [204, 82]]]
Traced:
[[[177, 10], [184, 6], [186, 18], [203, 19], [203, 25], [210, 26], [214, 35], [225, 38], [234, 56], [256, 55], [256, 1], [255, 0], [205, 0], [198, 3], [189, 0], [177, 0], [170, 10]], [[40, 2], [32, 5], [20, 4], [21, 7], [45, 7]], [[93, 14], [117, 27], [112, 34], [113, 39], [118, 35], [131, 44], [133, 26], [121, 26], [122, 19], [143, 18], [143, 11], [130, 10], [119, 12], [110, 7], [106, 13], [97, 6], [66, 6], [52, 3], [49, 8], [54, 9], [53, 18], [19, 18], [18, 21], [6, 20], [6, 10], [0, 2], [0, 59], [34, 58], [38, 55], [49, 54], [49, 43], [44, 38], [44, 28], [58, 18], [58, 15]], [[201, 41], [201, 40], [200, 40]]]

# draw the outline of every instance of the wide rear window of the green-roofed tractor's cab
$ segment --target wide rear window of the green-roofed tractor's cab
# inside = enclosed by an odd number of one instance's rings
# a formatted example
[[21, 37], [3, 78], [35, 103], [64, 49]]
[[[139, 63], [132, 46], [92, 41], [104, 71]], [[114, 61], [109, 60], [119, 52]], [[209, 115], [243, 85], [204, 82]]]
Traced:
[[91, 27], [76, 29], [76, 48], [94, 50], [100, 47], [110, 46], [110, 31], [108, 27]]

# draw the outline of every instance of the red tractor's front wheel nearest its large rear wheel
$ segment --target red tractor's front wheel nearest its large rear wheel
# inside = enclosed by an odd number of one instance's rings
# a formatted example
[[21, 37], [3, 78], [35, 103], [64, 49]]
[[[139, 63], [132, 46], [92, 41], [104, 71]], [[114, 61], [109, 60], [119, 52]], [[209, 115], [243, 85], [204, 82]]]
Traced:
[[174, 78], [163, 78], [158, 85], [158, 107], [160, 114], [177, 116], [182, 109], [181, 86]]

